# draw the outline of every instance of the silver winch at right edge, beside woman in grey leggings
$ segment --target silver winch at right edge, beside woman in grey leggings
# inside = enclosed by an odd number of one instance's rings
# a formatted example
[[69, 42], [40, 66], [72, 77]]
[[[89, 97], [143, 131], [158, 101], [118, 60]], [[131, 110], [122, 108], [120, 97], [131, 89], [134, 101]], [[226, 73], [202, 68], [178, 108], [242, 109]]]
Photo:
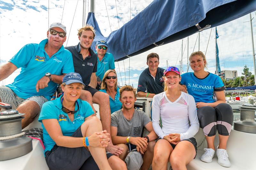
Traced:
[[256, 133], [255, 110], [256, 106], [243, 104], [240, 107], [240, 120], [234, 122], [234, 130]]

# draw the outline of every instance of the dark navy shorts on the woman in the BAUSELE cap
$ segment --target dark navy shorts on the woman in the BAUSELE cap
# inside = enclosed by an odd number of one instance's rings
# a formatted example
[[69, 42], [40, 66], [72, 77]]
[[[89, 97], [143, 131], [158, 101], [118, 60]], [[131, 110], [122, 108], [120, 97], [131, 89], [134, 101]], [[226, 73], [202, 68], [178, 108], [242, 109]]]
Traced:
[[[72, 137], [83, 137], [81, 126], [76, 129]], [[107, 158], [113, 156], [108, 152], [106, 154]], [[55, 144], [51, 151], [45, 152], [45, 160], [51, 170], [99, 169], [91, 153], [84, 147], [67, 148]]]

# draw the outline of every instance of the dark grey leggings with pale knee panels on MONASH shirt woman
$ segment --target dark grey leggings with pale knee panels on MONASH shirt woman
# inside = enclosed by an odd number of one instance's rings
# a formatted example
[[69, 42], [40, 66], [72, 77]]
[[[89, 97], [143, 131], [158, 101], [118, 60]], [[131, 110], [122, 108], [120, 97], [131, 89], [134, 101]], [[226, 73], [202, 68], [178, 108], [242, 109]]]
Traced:
[[220, 103], [215, 108], [200, 107], [197, 109], [197, 117], [205, 136], [214, 136], [217, 130], [223, 136], [230, 134], [234, 116], [233, 110], [228, 104]]

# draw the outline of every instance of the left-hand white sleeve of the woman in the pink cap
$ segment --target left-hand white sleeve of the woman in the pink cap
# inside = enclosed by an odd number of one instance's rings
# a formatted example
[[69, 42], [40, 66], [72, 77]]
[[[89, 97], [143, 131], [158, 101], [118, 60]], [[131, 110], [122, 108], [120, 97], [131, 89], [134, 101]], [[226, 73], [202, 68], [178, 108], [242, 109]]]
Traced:
[[[160, 93], [161, 94], [161, 93]], [[160, 137], [161, 139], [164, 138], [164, 132], [161, 129], [159, 125], [159, 119], [160, 119], [160, 101], [159, 101], [159, 95], [155, 95], [153, 97], [152, 101], [152, 125], [153, 129], [156, 132], [157, 136]]]

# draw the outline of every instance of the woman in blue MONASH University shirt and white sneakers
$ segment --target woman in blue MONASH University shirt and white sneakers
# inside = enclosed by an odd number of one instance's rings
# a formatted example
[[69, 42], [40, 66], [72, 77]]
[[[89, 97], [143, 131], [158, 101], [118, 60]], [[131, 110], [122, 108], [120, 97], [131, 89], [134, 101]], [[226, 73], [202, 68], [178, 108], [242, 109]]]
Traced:
[[194, 72], [182, 74], [181, 84], [186, 85], [188, 94], [195, 98], [200, 128], [203, 129], [207, 141], [208, 147], [204, 149], [205, 152], [200, 159], [207, 163], [212, 162], [215, 153], [214, 138], [218, 130], [218, 163], [230, 167], [226, 146], [233, 123], [233, 111], [225, 101], [225, 86], [219, 76], [204, 70], [207, 68], [204, 53], [192, 53], [189, 62]]

